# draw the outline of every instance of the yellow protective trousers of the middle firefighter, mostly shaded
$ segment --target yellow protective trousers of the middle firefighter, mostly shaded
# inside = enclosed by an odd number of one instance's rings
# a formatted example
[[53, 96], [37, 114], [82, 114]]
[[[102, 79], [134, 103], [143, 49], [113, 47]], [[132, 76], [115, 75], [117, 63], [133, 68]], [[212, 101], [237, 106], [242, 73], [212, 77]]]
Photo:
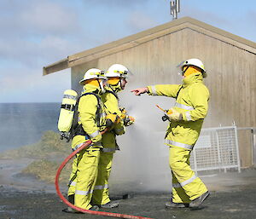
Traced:
[[[103, 149], [104, 150], [104, 149]], [[98, 164], [98, 176], [93, 190], [92, 203], [105, 205], [110, 202], [108, 193], [108, 178], [112, 168], [113, 153], [101, 152]]]

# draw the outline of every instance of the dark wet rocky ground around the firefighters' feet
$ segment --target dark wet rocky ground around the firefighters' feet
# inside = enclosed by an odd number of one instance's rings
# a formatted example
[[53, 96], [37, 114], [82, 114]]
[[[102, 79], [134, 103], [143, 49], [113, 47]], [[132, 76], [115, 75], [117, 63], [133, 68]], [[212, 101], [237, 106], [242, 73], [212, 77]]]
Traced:
[[[66, 206], [55, 193], [52, 184], [39, 182], [33, 176], [24, 176], [20, 170], [31, 160], [0, 160], [0, 218], [1, 219], [50, 219], [50, 218], [108, 218], [88, 214], [67, 214]], [[140, 191], [125, 188], [130, 199], [122, 199], [124, 193], [112, 188], [113, 199], [119, 199], [119, 208], [108, 210], [155, 219], [255, 219], [256, 218], [256, 170], [228, 173], [212, 173], [201, 176], [211, 191], [201, 210], [166, 210], [170, 199], [168, 191]], [[135, 185], [136, 186], [136, 185]], [[61, 187], [63, 193], [66, 187]], [[122, 190], [124, 191], [124, 190]], [[127, 196], [125, 197], [127, 198]]]

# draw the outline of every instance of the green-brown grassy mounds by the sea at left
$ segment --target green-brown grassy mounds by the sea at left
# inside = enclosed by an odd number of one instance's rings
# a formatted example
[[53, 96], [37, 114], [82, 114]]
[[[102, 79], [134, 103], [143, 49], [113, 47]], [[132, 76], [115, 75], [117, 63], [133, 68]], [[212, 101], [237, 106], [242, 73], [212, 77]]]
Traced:
[[[39, 180], [54, 183], [57, 169], [70, 153], [72, 153], [71, 141], [61, 140], [58, 133], [48, 130], [35, 144], [6, 151], [0, 155], [0, 158], [32, 158], [34, 161], [22, 170], [22, 173], [32, 174]], [[70, 160], [61, 171], [60, 182], [68, 182], [72, 163]]]

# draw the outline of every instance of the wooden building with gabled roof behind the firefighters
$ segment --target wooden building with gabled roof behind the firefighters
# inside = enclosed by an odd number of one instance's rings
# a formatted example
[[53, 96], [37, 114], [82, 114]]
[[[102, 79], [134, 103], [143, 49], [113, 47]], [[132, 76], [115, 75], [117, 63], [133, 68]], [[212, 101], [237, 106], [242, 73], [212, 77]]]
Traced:
[[[176, 66], [198, 58], [206, 66], [210, 109], [204, 127], [256, 126], [256, 43], [190, 17], [88, 49], [44, 67], [44, 75], [71, 68], [72, 88], [91, 67], [127, 66], [135, 84], [180, 84]], [[137, 87], [133, 87], [137, 88]], [[240, 131], [241, 166], [253, 164], [250, 133]]]

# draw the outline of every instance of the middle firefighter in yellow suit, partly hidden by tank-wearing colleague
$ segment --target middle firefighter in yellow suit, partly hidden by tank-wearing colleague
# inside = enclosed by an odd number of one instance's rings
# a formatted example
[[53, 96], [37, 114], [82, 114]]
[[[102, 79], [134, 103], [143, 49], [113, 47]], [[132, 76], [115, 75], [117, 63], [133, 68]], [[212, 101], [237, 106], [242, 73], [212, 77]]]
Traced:
[[109, 199], [108, 178], [112, 169], [113, 153], [115, 153], [115, 150], [118, 148], [116, 135], [123, 135], [125, 133], [124, 121], [123, 119], [120, 119], [123, 118], [123, 115], [119, 109], [119, 98], [117, 93], [122, 89], [125, 89], [125, 78], [127, 78], [128, 72], [129, 71], [125, 66], [113, 64], [108, 68], [108, 72], [105, 73], [105, 76], [108, 78], [108, 86], [105, 87], [106, 92], [102, 95], [102, 101], [107, 109], [108, 115], [116, 116], [118, 121], [114, 118], [111, 119], [116, 122], [113, 124], [111, 130], [102, 135], [103, 149], [101, 151], [96, 187], [94, 188], [92, 197], [93, 204], [99, 205], [102, 208], [114, 208], [119, 205], [118, 202]]

